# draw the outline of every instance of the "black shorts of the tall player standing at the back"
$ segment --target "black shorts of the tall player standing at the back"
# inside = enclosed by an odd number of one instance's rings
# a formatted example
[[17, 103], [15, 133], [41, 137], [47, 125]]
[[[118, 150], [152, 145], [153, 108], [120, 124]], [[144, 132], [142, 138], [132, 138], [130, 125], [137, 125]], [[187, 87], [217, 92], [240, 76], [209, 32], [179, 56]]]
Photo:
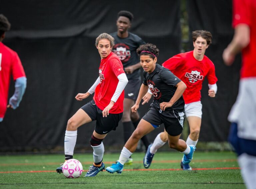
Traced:
[[129, 79], [127, 85], [124, 88], [124, 98], [129, 98], [134, 101], [137, 100], [140, 86], [141, 86], [141, 80], [138, 79]]

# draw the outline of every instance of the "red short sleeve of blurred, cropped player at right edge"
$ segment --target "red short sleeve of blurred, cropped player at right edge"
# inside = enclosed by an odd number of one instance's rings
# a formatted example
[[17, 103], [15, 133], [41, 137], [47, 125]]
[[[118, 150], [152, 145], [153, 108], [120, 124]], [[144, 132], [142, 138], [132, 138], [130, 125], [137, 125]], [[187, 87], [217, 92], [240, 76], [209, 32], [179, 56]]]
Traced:
[[233, 0], [233, 27], [238, 24], [247, 24], [251, 26], [249, 0]]

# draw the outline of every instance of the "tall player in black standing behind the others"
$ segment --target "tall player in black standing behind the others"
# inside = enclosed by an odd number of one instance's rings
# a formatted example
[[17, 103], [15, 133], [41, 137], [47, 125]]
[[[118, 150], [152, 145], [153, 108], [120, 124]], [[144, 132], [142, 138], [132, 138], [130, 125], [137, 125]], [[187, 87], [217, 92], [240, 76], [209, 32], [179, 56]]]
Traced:
[[[124, 112], [122, 117], [124, 130], [124, 143], [130, 138], [133, 127], [137, 127], [140, 122], [138, 112], [131, 112], [138, 96], [141, 84], [140, 61], [136, 53], [136, 49], [145, 44], [145, 42], [137, 35], [128, 32], [133, 20], [133, 14], [129, 11], [120, 11], [117, 15], [117, 32], [111, 33], [115, 39], [113, 52], [119, 57], [124, 66], [124, 71], [128, 78], [128, 84], [124, 89]], [[150, 144], [147, 137], [142, 137], [142, 142], [147, 150]], [[131, 164], [132, 158], [129, 158], [126, 164]]]

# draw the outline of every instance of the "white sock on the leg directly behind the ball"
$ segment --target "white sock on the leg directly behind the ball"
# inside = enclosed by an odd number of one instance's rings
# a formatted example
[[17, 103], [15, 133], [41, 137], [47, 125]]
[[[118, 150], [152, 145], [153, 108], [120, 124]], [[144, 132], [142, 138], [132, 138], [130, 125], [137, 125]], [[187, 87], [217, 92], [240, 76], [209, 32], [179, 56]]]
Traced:
[[77, 130], [76, 131], [67, 131], [65, 133], [64, 139], [64, 150], [66, 155], [73, 155], [74, 148], [76, 145], [76, 137], [77, 137]]

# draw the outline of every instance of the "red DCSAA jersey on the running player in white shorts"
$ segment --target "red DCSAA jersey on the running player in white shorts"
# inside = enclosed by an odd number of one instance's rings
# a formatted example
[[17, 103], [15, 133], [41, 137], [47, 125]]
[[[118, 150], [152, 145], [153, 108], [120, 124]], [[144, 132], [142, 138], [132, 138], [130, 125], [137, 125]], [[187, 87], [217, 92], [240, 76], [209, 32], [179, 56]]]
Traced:
[[166, 60], [163, 66], [187, 85], [183, 93], [185, 104], [200, 101], [200, 91], [206, 76], [211, 85], [218, 81], [212, 61], [207, 56], [204, 56], [202, 61], [198, 61], [194, 58], [193, 51], [177, 54]]

